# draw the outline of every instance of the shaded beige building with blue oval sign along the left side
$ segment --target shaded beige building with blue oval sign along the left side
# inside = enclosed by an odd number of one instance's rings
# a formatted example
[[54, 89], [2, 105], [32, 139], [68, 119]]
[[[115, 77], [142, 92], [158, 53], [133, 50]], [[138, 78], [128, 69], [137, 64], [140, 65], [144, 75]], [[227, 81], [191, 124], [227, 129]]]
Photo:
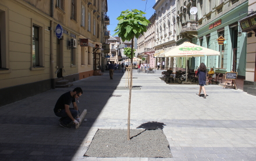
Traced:
[[95, 53], [104, 53], [106, 12], [106, 0], [0, 0], [0, 105], [92, 76], [102, 56], [94, 61]]

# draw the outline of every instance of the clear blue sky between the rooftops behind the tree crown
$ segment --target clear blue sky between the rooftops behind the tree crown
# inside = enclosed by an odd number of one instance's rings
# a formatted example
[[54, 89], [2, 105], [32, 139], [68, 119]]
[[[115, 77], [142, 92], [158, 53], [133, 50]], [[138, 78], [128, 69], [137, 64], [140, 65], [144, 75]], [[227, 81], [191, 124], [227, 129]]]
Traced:
[[[118, 18], [122, 11], [129, 9], [142, 10], [146, 14], [144, 15], [147, 19], [150, 19], [155, 10], [152, 8], [155, 5], [155, 0], [108, 0], [108, 12], [110, 24], [108, 25], [108, 31], [110, 35], [115, 34], [115, 28], [118, 25]], [[116, 35], [117, 36], [117, 35]]]

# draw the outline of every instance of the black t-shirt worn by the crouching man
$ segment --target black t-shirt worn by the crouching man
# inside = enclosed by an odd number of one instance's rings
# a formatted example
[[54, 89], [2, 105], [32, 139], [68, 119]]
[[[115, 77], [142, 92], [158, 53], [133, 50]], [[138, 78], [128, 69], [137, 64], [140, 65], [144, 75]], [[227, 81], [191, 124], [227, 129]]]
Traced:
[[70, 105], [70, 103], [75, 102], [74, 97], [71, 96], [70, 92], [64, 93], [59, 97], [55, 104], [54, 112], [58, 112], [58, 109], [65, 109], [65, 104]]

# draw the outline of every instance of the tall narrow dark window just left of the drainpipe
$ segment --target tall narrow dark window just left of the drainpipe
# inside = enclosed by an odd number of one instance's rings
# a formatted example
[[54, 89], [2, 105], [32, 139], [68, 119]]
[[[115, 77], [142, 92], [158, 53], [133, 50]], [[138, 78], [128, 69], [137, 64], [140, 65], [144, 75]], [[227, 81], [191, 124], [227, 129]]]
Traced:
[[39, 27], [33, 25], [33, 47], [32, 47], [32, 64], [33, 67], [40, 66], [39, 63]]

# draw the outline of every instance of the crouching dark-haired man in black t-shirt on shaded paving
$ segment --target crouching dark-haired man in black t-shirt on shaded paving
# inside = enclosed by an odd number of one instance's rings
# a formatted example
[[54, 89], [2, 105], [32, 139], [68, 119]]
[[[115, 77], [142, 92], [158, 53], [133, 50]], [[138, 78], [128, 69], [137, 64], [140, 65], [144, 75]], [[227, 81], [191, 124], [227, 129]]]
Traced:
[[[54, 107], [54, 114], [61, 117], [61, 119], [59, 119], [60, 126], [69, 129], [71, 125], [78, 125], [79, 122], [81, 122], [78, 115], [79, 109], [76, 104], [76, 99], [79, 103], [78, 98], [82, 94], [83, 90], [80, 87], [76, 87], [73, 91], [66, 92], [59, 97]], [[70, 108], [71, 103], [73, 104], [73, 109]]]

